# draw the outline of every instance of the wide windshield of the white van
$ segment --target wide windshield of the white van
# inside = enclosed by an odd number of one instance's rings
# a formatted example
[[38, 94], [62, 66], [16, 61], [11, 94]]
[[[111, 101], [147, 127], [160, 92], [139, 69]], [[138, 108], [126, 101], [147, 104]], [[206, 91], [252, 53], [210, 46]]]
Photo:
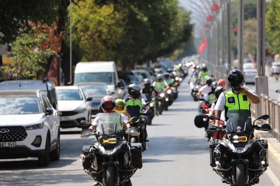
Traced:
[[113, 72], [91, 72], [75, 74], [75, 84], [100, 82], [108, 84], [113, 83]]

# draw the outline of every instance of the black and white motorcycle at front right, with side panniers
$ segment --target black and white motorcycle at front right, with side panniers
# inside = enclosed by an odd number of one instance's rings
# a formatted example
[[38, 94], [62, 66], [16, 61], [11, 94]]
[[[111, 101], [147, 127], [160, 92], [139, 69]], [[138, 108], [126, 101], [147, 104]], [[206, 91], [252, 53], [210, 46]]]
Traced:
[[[250, 186], [259, 183], [259, 177], [268, 167], [267, 140], [254, 137], [254, 130], [269, 131], [269, 124], [255, 125], [259, 119], [268, 119], [262, 115], [251, 124], [249, 110], [227, 111], [227, 124], [222, 127], [209, 126], [208, 132], [225, 132], [222, 139], [210, 140], [210, 165], [223, 183], [231, 186]], [[212, 120], [218, 119], [209, 115]], [[220, 120], [220, 119], [218, 119]], [[220, 120], [221, 121], [221, 120]]]

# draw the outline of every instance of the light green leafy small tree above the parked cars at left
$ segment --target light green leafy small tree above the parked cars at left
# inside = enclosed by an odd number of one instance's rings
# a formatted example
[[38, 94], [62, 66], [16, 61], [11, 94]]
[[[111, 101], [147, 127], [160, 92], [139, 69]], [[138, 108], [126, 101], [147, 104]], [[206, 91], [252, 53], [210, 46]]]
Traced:
[[16, 40], [10, 44], [13, 62], [11, 66], [2, 67], [6, 72], [12, 72], [17, 79], [36, 76], [36, 72], [44, 71], [39, 63], [47, 63], [47, 58], [55, 53], [51, 49], [42, 51], [40, 49], [43, 40], [47, 40], [46, 33], [37, 34], [36, 28], [32, 28], [28, 33], [21, 33]]

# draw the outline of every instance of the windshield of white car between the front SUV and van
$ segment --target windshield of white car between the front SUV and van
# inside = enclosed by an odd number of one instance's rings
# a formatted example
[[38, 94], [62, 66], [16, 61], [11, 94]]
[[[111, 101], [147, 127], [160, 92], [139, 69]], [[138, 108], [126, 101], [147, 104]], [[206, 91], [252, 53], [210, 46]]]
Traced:
[[58, 100], [83, 100], [83, 96], [78, 89], [57, 89]]

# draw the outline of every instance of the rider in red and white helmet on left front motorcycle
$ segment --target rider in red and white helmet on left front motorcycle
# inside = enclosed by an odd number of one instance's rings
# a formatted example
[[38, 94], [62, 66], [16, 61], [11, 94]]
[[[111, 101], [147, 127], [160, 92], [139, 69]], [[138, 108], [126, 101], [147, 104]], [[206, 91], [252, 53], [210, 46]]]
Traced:
[[[108, 114], [114, 113], [115, 106], [116, 106], [115, 98], [113, 96], [104, 96], [100, 101], [100, 105], [101, 105], [102, 111], [104, 113], [108, 113]], [[127, 118], [123, 114], [120, 114], [120, 118], [116, 119], [116, 122], [119, 122], [119, 124], [122, 126], [125, 126], [125, 128], [130, 127], [130, 124], [127, 124], [127, 122], [128, 122]], [[99, 117], [97, 116], [93, 120], [93, 122], [89, 128], [91, 130], [95, 130], [97, 128], [98, 124], [99, 124]], [[126, 184], [127, 184], [127, 186], [132, 185], [130, 180], [128, 180]], [[99, 185], [99, 183], [97, 181], [95, 181], [93, 183], [93, 186], [95, 186], [95, 185]]]

